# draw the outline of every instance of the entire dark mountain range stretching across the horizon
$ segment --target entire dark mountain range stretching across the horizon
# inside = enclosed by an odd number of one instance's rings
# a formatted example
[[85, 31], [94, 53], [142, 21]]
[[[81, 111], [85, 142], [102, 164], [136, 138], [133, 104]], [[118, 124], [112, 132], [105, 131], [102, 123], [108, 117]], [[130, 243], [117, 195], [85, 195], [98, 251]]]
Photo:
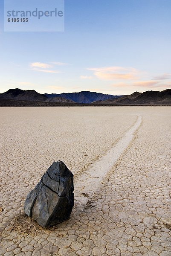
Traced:
[[[92, 104], [92, 105], [171, 105], [171, 89], [159, 91], [134, 92], [130, 95], [114, 96], [110, 94], [81, 91], [79, 93], [41, 94], [35, 90], [9, 89], [0, 93], [0, 99], [9, 101], [46, 102], [54, 105], [63, 104]], [[29, 104], [27, 102], [27, 104]], [[51, 103], [50, 103], [51, 102]], [[42, 105], [41, 103], [41, 105]], [[53, 103], [53, 104], [52, 104]], [[2, 103], [3, 104], [3, 103]], [[12, 102], [10, 103], [12, 104]], [[45, 105], [45, 103], [43, 103]], [[39, 104], [40, 105], [40, 104]]]

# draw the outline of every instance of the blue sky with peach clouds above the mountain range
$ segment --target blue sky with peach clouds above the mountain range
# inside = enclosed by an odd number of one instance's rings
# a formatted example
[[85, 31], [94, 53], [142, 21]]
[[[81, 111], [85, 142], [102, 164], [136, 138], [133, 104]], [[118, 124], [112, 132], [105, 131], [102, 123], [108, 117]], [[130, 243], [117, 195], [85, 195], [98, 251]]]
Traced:
[[65, 0], [64, 32], [4, 32], [3, 15], [0, 93], [171, 88], [171, 0]]

